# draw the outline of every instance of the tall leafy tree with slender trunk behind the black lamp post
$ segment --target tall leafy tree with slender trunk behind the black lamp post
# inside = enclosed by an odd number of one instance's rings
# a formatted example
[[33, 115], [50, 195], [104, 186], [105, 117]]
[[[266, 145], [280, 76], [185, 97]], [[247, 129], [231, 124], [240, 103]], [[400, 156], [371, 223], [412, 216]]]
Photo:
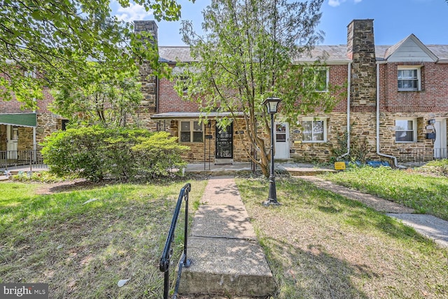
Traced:
[[[321, 41], [316, 31], [323, 0], [212, 0], [204, 9], [204, 34], [196, 34], [191, 22], [183, 22], [183, 41], [191, 48], [195, 62], [185, 68], [177, 83], [179, 95], [202, 104], [209, 111], [230, 111], [222, 126], [244, 114], [246, 151], [268, 176], [269, 116], [262, 102], [280, 97], [281, 112], [289, 120], [320, 107], [335, 104], [335, 92], [316, 92], [316, 69], [297, 58]], [[293, 62], [293, 63], [292, 63]], [[312, 84], [309, 84], [312, 83]], [[299, 101], [300, 99], [300, 101]], [[257, 158], [249, 151], [256, 148]]]

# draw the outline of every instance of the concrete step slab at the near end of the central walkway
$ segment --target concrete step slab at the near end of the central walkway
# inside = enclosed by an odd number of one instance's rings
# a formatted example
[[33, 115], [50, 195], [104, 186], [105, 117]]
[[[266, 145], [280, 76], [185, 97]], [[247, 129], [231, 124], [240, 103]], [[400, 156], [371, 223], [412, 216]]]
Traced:
[[192, 265], [182, 270], [179, 295], [274, 294], [274, 277], [255, 240], [191, 237], [188, 244]]

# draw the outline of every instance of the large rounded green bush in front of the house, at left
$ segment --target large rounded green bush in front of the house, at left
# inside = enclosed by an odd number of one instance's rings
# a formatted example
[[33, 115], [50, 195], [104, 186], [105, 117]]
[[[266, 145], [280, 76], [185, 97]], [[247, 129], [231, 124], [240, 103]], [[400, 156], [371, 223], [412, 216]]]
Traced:
[[181, 153], [186, 150], [167, 132], [91, 126], [53, 133], [42, 153], [56, 174], [133, 181], [167, 176], [170, 167], [185, 165]]

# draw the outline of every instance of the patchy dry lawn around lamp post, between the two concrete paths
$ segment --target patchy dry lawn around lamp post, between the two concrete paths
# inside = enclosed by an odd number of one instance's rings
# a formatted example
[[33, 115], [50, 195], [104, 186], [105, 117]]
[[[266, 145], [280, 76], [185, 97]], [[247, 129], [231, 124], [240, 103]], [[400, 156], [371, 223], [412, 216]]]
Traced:
[[294, 178], [237, 179], [279, 291], [274, 298], [447, 298], [448, 251], [360, 202]]

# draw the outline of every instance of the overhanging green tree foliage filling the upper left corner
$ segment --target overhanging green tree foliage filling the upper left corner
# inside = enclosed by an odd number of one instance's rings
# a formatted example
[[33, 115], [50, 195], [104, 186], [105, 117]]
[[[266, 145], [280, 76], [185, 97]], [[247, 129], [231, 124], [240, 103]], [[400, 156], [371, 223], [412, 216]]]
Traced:
[[[194, 0], [192, 0], [194, 1]], [[134, 0], [156, 20], [178, 20], [176, 0]], [[132, 24], [111, 15], [111, 0], [3, 0], [0, 4], [0, 98], [14, 92], [35, 107], [45, 85], [102, 80], [88, 61], [108, 62], [109, 72], [132, 71], [146, 60], [162, 73], [156, 46], [132, 34]], [[130, 0], [118, 0], [123, 7]], [[143, 34], [144, 35], [144, 34]], [[112, 67], [113, 66], [113, 67]], [[104, 75], [104, 74], [102, 74]]]

